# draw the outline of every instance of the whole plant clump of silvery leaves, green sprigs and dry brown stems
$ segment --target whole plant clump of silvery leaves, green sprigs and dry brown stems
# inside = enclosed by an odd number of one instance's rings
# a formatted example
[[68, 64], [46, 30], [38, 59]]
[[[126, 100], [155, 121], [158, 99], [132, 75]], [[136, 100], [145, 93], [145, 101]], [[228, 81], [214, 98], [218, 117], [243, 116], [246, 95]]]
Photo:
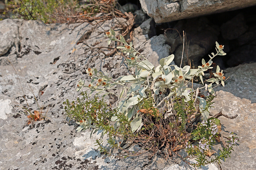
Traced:
[[[104, 98], [112, 93], [112, 89], [120, 90], [118, 105], [112, 117], [109, 117], [107, 124], [97, 127], [94, 132], [100, 129], [103, 131], [102, 135], [108, 134], [108, 143], [119, 149], [125, 149], [133, 142], [152, 154], [162, 150], [166, 156], [172, 156], [186, 147], [188, 154], [195, 155], [199, 162], [194, 166], [210, 163], [205, 156], [211, 156], [208, 154], [212, 150], [211, 146], [214, 145], [215, 139], [220, 137], [220, 128], [216, 129], [220, 126], [219, 120], [209, 118], [209, 108], [212, 107], [215, 97], [212, 84], [224, 86], [226, 78], [219, 66], [214, 73], [215, 78], [206, 80], [208, 84], [204, 84], [203, 76], [205, 71], [212, 68], [214, 57], [226, 55], [223, 52], [224, 46], [216, 42], [216, 54], [209, 55], [210, 60], [207, 63], [202, 59], [202, 66], [197, 69], [191, 69], [190, 66], [181, 68], [170, 65], [174, 55], [160, 59], [159, 65], [154, 66], [132, 47], [132, 43], [126, 43], [122, 35], [117, 39], [113, 29], [110, 29], [105, 37], [108, 37], [108, 45], [112, 41], [123, 44], [116, 48], [127, 55], [126, 64], [130, 75], [113, 80], [107, 73], [98, 72], [96, 68], [86, 69], [92, 80], [86, 85], [85, 81], [80, 79], [78, 91], [86, 87], [90, 90], [90, 95], [103, 94]], [[206, 99], [198, 97], [200, 88], [194, 90], [189, 87], [195, 77], [199, 77], [205, 85], [201, 89], [210, 93]], [[204, 124], [200, 123], [202, 120]], [[96, 124], [88, 119], [86, 121], [90, 125]], [[89, 127], [91, 126], [83, 129]], [[199, 145], [191, 147], [190, 144], [195, 141], [199, 142]], [[102, 146], [102, 141], [97, 140], [96, 143], [102, 152], [107, 152]], [[234, 141], [224, 156], [217, 156], [212, 162], [228, 156], [233, 145]]]

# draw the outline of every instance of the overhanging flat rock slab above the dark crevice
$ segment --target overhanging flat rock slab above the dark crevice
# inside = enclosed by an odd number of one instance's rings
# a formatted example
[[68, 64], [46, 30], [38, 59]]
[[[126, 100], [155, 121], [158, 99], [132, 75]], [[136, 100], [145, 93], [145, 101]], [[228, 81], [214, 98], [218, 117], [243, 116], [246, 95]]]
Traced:
[[256, 5], [256, 0], [140, 0], [156, 23], [193, 18]]

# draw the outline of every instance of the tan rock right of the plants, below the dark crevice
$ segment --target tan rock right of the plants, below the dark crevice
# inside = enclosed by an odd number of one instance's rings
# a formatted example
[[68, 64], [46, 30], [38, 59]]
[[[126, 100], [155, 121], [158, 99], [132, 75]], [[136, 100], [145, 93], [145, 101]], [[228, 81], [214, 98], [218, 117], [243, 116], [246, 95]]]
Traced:
[[227, 80], [225, 87], [216, 87], [214, 115], [222, 111], [228, 116], [238, 115], [235, 119], [219, 117], [222, 132], [229, 136], [230, 131], [239, 137], [231, 158], [221, 164], [222, 170], [254, 170], [256, 165], [256, 63], [242, 64], [224, 70]]

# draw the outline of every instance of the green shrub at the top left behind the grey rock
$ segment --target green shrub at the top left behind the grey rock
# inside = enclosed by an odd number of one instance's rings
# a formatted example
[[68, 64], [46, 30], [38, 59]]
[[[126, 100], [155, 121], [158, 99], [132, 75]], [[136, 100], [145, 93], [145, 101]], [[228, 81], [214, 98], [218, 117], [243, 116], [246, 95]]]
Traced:
[[14, 18], [64, 23], [78, 13], [79, 4], [77, 0], [18, 0], [8, 2], [8, 7]]

